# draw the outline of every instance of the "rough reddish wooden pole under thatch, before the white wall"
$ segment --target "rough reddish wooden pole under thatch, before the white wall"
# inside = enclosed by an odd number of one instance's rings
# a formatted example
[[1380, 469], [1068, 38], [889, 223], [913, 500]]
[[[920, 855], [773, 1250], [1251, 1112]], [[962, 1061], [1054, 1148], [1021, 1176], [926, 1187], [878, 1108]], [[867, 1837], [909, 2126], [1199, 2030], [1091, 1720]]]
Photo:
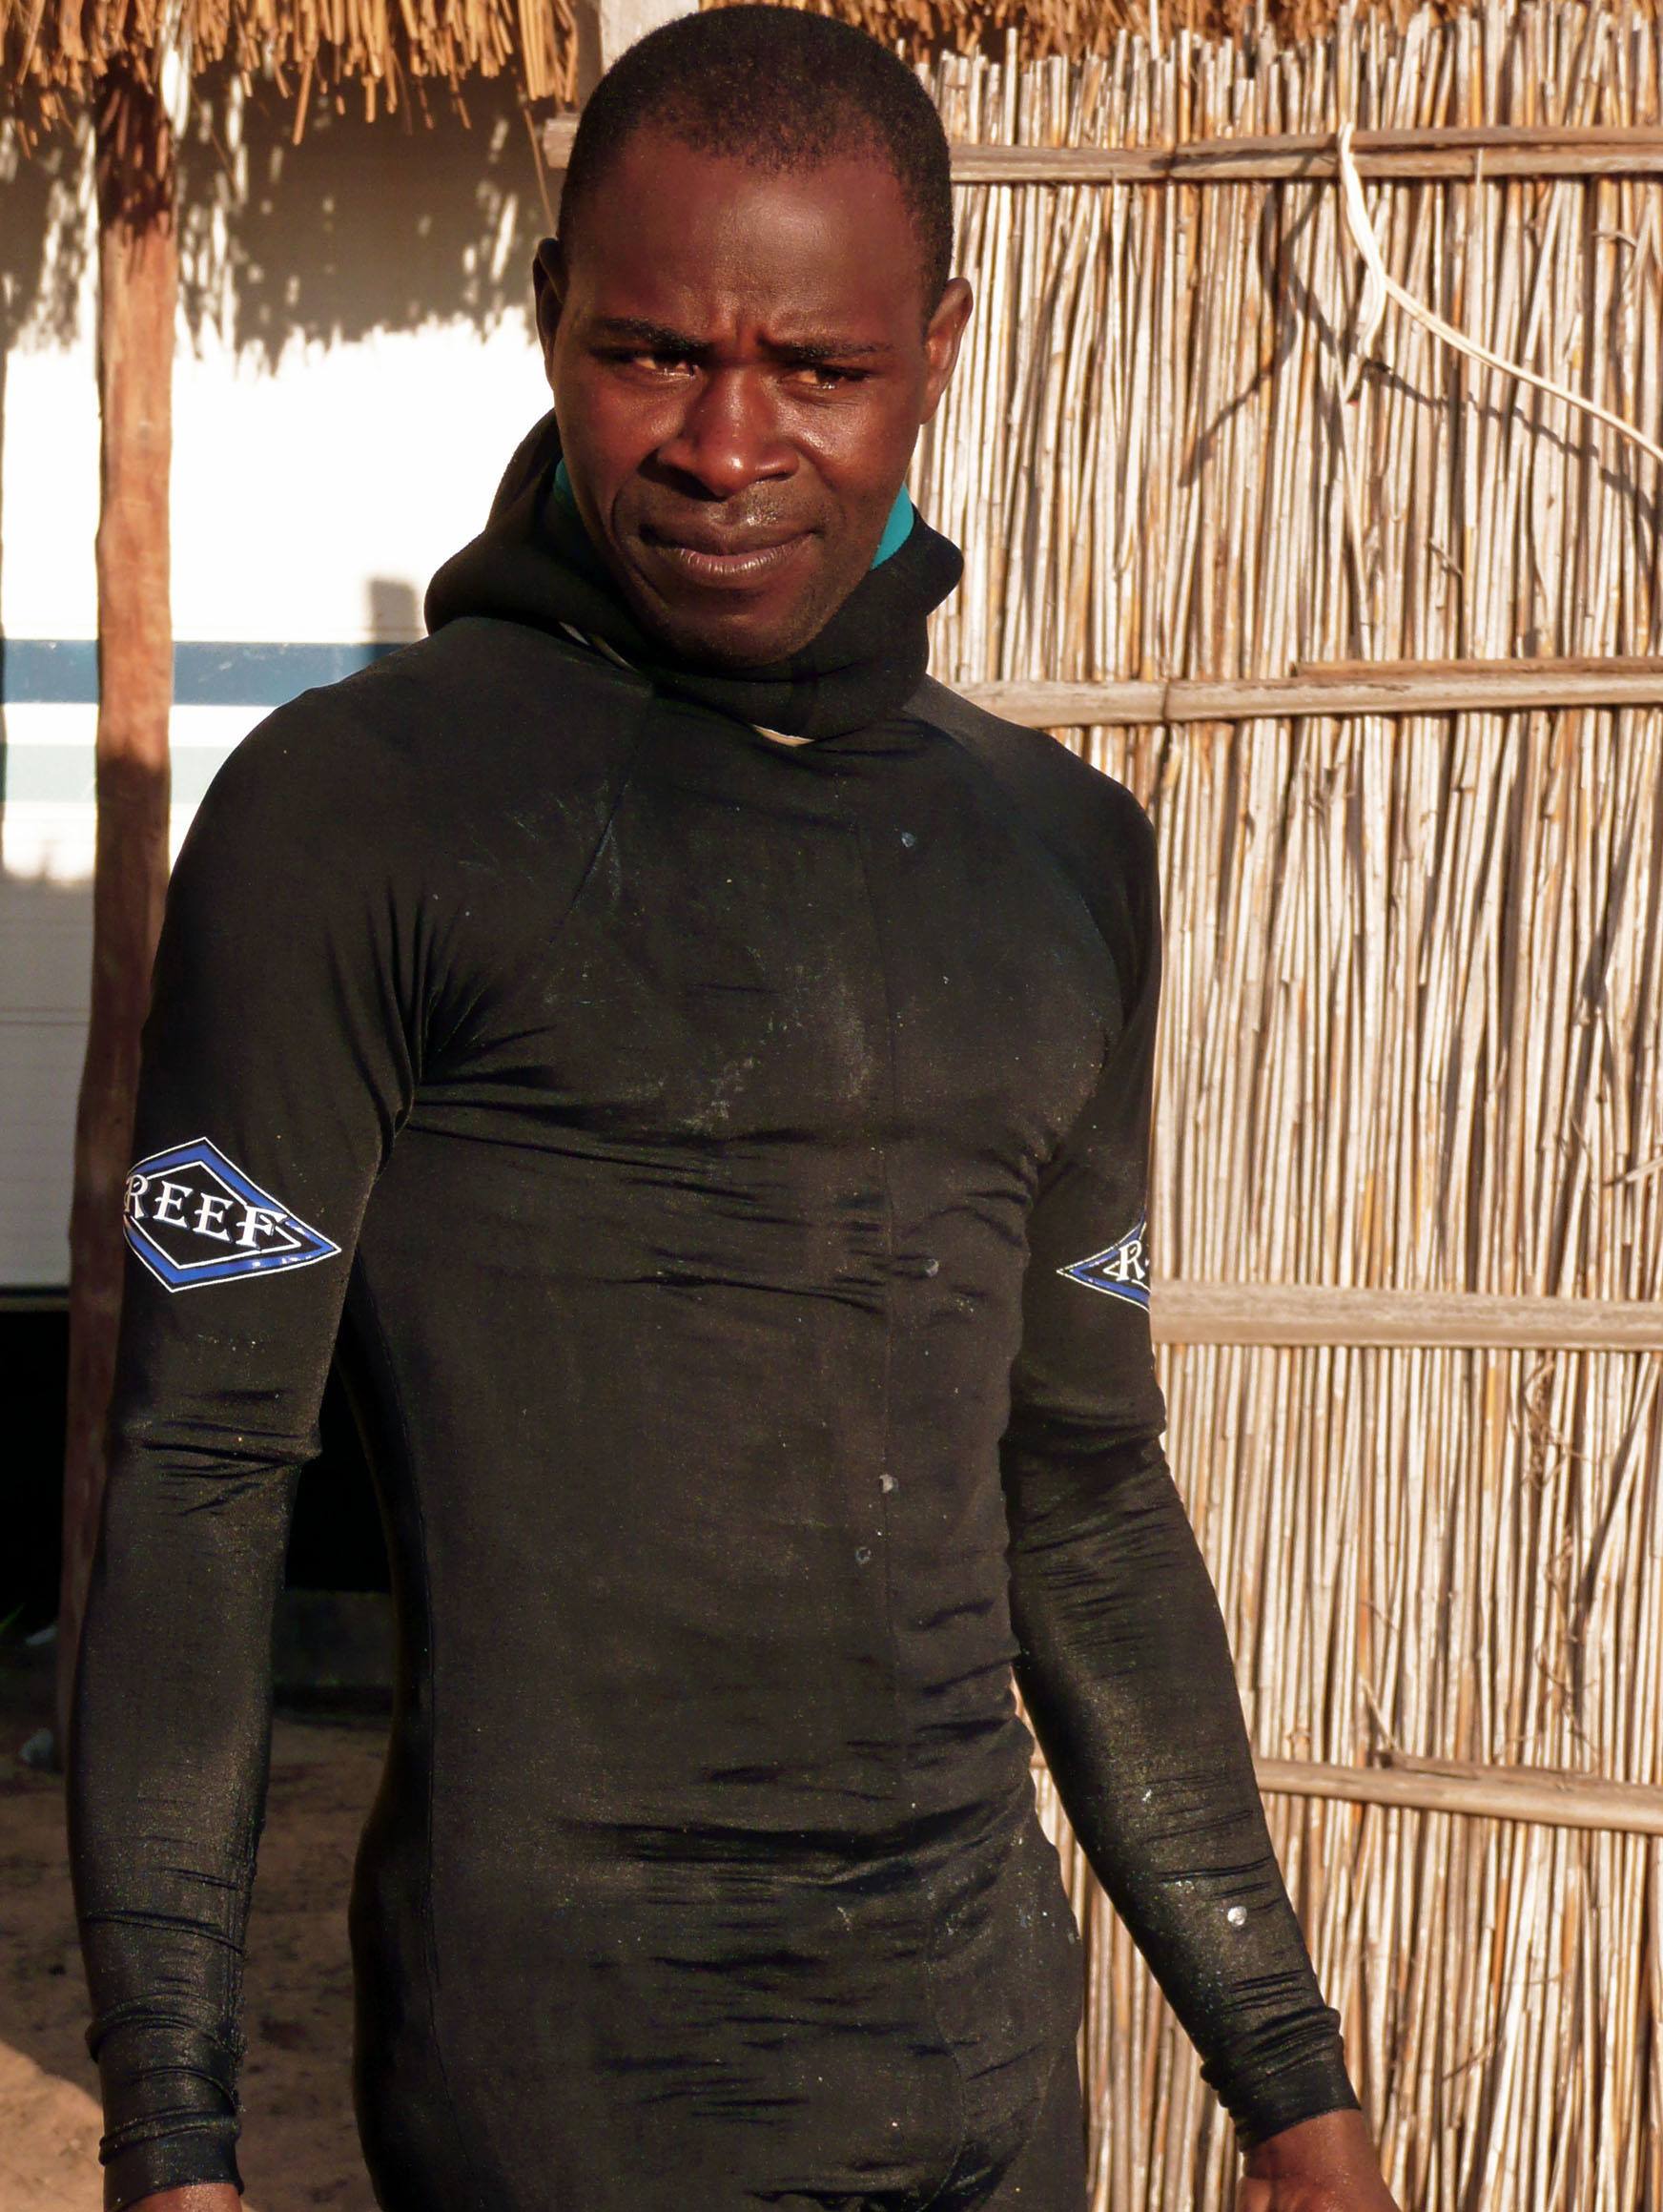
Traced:
[[75, 1113], [69, 1228], [69, 1420], [57, 1610], [60, 1743], [104, 1500], [104, 1420], [122, 1312], [122, 1186], [139, 1026], [168, 883], [172, 602], [168, 465], [179, 296], [172, 131], [157, 93], [113, 69], [93, 108], [97, 168], [97, 845], [93, 998]]

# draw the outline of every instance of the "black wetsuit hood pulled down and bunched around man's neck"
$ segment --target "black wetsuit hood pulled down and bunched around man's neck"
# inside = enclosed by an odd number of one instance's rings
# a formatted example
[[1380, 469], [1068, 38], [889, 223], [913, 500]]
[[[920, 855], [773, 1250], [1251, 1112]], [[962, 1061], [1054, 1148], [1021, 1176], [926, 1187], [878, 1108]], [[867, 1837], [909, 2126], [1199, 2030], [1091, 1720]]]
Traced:
[[964, 573], [958, 546], [922, 515], [789, 659], [699, 668], [635, 619], [575, 511], [555, 495], [559, 429], [546, 414], [513, 453], [484, 531], [429, 584], [429, 630], [462, 615], [573, 628], [608, 644], [661, 690], [789, 737], [865, 728], [918, 688], [929, 661], [924, 622]]

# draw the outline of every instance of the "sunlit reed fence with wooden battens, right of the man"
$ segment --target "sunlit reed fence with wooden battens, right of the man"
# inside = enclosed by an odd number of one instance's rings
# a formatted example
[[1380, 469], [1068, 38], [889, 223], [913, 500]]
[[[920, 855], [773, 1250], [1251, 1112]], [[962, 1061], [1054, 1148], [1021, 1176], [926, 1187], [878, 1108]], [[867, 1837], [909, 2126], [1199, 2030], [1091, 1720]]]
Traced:
[[[1663, 24], [924, 75], [980, 294], [913, 484], [969, 557], [935, 672], [1157, 821], [1170, 1455], [1389, 2179], [1663, 2212], [1663, 467], [1395, 303], [1353, 374], [1333, 153], [1402, 288], [1656, 442]], [[1095, 2208], [1227, 2205], [1042, 1803]]]

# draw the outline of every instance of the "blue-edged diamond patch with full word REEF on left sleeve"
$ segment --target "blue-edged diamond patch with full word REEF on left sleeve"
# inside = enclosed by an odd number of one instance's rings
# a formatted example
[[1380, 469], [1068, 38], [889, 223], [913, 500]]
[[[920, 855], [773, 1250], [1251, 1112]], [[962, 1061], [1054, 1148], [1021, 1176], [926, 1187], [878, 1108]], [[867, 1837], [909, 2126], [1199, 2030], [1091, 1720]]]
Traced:
[[122, 1212], [126, 1241], [166, 1290], [310, 1267], [341, 1250], [208, 1137], [137, 1161]]

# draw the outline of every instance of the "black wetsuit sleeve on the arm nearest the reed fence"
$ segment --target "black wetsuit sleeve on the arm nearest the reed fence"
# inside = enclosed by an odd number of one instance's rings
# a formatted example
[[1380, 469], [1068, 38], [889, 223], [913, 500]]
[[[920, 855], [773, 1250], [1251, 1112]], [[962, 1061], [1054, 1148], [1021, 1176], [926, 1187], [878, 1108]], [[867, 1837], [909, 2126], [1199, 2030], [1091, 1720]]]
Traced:
[[1161, 1447], [1148, 1312], [1154, 834], [1123, 799], [1126, 1026], [1031, 1219], [1004, 1444], [1017, 1679], [1086, 1856], [1243, 2143], [1356, 2108]]

